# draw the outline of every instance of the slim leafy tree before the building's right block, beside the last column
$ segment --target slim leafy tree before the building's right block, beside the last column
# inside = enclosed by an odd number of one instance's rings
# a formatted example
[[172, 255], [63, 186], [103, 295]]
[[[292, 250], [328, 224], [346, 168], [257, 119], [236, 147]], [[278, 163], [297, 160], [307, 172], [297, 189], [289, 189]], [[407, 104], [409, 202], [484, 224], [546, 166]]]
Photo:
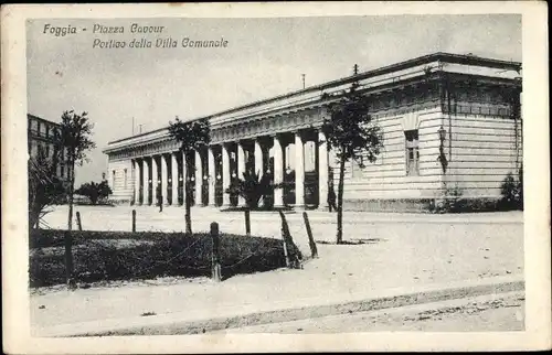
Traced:
[[337, 243], [343, 238], [343, 178], [348, 161], [354, 160], [364, 166], [364, 159], [374, 162], [383, 148], [381, 128], [370, 116], [370, 101], [359, 93], [358, 84], [344, 92], [341, 99], [328, 107], [329, 117], [322, 123], [328, 148], [335, 151], [339, 162], [338, 230]]

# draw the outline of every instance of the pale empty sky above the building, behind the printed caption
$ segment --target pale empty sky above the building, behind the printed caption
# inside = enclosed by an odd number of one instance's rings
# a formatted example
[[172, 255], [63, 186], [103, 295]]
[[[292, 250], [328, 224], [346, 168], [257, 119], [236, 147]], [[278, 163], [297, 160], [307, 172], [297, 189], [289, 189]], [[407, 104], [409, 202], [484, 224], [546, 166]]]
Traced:
[[[130, 33], [132, 23], [164, 29]], [[125, 33], [93, 33], [94, 24]], [[56, 36], [50, 32], [55, 26], [77, 33]], [[151, 49], [128, 47], [142, 37]], [[183, 37], [222, 37], [227, 46], [184, 49]], [[95, 39], [126, 41], [127, 47], [93, 47]], [[156, 39], [178, 47], [155, 47]], [[521, 15], [30, 20], [28, 111], [52, 121], [64, 110], [88, 112], [97, 148], [76, 170], [78, 186], [107, 171], [102, 150], [108, 141], [140, 129], [301, 89], [301, 74], [308, 87], [351, 75], [354, 64], [363, 72], [434, 52], [521, 62]]]

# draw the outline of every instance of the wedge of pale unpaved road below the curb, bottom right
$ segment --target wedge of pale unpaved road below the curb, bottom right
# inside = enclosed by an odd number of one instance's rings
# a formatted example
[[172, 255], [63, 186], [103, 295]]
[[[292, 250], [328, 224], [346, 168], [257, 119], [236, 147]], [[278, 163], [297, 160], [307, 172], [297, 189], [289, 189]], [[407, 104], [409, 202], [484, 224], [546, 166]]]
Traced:
[[215, 333], [506, 332], [524, 330], [523, 292], [485, 295]]

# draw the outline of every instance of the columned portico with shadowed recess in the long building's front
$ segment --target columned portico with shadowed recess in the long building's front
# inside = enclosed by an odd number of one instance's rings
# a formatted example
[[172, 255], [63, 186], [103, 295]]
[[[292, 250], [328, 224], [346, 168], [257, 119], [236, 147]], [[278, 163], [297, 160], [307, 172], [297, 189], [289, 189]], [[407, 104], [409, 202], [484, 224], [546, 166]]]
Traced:
[[[309, 120], [305, 120], [304, 125], [307, 126], [308, 122]], [[130, 203], [156, 205], [161, 202], [164, 206], [181, 206], [187, 193], [184, 184], [188, 183], [188, 191], [193, 194], [193, 205], [242, 207], [245, 206], [245, 200], [232, 196], [226, 190], [234, 179], [243, 178], [247, 169], [253, 169], [259, 178], [270, 175], [270, 181], [276, 184], [272, 202], [274, 207], [291, 205], [304, 208], [307, 202], [312, 206], [326, 206], [326, 198], [320, 203], [318, 196], [326, 196], [328, 191], [329, 160], [323, 133], [319, 129], [294, 129], [243, 139], [237, 137], [238, 132], [240, 127], [226, 128], [222, 133], [215, 131], [208, 149], [194, 151], [189, 157], [189, 166], [185, 166], [185, 157], [178, 150], [176, 142], [166, 137], [157, 144], [150, 143], [136, 149], [129, 147], [127, 153], [132, 155], [128, 158], [134, 182]], [[308, 141], [317, 149], [307, 151]], [[314, 159], [310, 160], [318, 162], [308, 166], [309, 173], [318, 176], [318, 191], [307, 200], [306, 153], [312, 154]], [[289, 176], [293, 181], [286, 179]], [[285, 201], [286, 190], [288, 193], [295, 191], [291, 194], [295, 198], [288, 197]]]

